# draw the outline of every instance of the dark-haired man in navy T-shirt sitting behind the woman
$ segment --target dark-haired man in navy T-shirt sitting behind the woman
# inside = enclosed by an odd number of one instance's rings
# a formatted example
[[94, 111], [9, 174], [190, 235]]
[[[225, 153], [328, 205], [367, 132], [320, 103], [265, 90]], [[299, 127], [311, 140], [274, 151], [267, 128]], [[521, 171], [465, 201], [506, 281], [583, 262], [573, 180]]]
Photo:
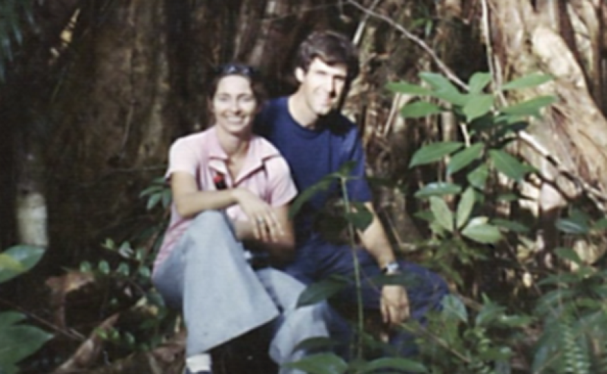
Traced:
[[[335, 109], [344, 88], [359, 72], [357, 50], [343, 35], [335, 32], [312, 33], [300, 46], [295, 77], [297, 91], [270, 101], [257, 117], [257, 130], [286, 158], [297, 189], [301, 193], [347, 162], [353, 163], [348, 181], [348, 199], [364, 203], [372, 222], [360, 233], [362, 248], [356, 250], [364, 279], [402, 273], [414, 283], [364, 285], [364, 306], [379, 309], [383, 322], [394, 327], [409, 317], [423, 320], [428, 310], [439, 308], [448, 293], [445, 282], [415, 264], [399, 261], [375, 215], [372, 195], [364, 179], [365, 156], [355, 124]], [[315, 226], [315, 217], [329, 201], [339, 195], [339, 186], [315, 194], [295, 217], [297, 255], [285, 268], [306, 284], [329, 275], [352, 275], [352, 248], [324, 239]], [[341, 302], [355, 304], [355, 293], [341, 294]], [[401, 344], [401, 353], [411, 353], [410, 336], [392, 337]], [[405, 347], [408, 343], [408, 348]]]

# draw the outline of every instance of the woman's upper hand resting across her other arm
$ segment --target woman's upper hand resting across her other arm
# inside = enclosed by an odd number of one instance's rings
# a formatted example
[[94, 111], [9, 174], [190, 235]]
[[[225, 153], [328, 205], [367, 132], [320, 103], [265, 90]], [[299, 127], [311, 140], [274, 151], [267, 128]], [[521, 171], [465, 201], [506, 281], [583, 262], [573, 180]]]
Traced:
[[262, 242], [278, 242], [284, 235], [284, 228], [276, 217], [274, 209], [255, 194], [244, 188], [233, 190], [235, 199], [248, 217], [253, 236]]

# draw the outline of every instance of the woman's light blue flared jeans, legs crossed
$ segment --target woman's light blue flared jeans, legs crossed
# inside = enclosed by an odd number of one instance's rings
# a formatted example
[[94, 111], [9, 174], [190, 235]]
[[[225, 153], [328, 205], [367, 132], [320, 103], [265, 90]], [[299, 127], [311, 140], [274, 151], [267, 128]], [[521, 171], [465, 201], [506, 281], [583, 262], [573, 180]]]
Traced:
[[296, 308], [304, 284], [273, 268], [253, 270], [230, 220], [217, 211], [192, 221], [152, 282], [167, 304], [183, 310], [188, 357], [268, 322], [275, 325], [269, 354], [277, 364], [303, 357], [295, 350], [301, 341], [328, 335], [326, 308]]

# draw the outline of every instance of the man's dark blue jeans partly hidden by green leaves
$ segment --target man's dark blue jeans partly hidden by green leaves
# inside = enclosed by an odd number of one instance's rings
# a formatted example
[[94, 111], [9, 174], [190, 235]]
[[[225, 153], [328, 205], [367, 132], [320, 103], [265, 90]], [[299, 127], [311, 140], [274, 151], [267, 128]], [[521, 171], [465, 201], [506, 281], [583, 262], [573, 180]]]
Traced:
[[[379, 313], [381, 286], [374, 283], [373, 278], [381, 275], [381, 269], [375, 259], [363, 248], [354, 250], [359, 262], [361, 273], [361, 294], [366, 311]], [[297, 248], [295, 262], [283, 270], [304, 284], [326, 279], [330, 275], [344, 275], [353, 279], [354, 261], [352, 247], [348, 245], [331, 244], [320, 237], [312, 237]], [[428, 311], [441, 308], [441, 300], [449, 293], [446, 282], [436, 273], [412, 264], [399, 261], [403, 278], [406, 279], [406, 290], [409, 298], [410, 317], [424, 324]], [[332, 297], [332, 302], [342, 308], [357, 307], [357, 291], [354, 282], [343, 292]], [[350, 337], [351, 331], [346, 332], [348, 326], [343, 319], [334, 319], [330, 329], [332, 335]], [[390, 338], [390, 344], [400, 355], [411, 356], [417, 353], [414, 342], [415, 337], [410, 333], [401, 331]]]

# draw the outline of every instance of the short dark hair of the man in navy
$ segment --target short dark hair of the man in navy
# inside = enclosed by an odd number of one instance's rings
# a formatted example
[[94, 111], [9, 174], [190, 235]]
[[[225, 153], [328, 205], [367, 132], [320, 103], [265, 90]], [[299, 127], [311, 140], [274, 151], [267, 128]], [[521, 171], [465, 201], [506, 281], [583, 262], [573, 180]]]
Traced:
[[315, 58], [328, 65], [344, 63], [348, 67], [348, 79], [352, 81], [359, 73], [358, 50], [352, 41], [338, 32], [325, 30], [312, 32], [299, 46], [296, 67], [308, 71]]

